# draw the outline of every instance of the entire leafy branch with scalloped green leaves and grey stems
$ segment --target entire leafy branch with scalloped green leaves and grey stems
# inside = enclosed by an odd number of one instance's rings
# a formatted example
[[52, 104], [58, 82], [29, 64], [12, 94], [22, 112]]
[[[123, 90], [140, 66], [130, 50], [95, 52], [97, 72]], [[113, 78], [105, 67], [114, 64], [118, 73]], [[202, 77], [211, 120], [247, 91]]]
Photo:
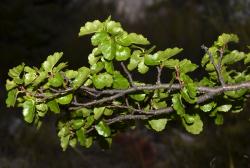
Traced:
[[[67, 69], [59, 62], [63, 53], [56, 52], [40, 68], [22, 63], [10, 69], [6, 81], [6, 104], [22, 107], [26, 122], [39, 128], [48, 112], [56, 114], [63, 150], [77, 143], [88, 148], [93, 141], [111, 145], [112, 137], [136, 126], [136, 120], [159, 132], [180, 119], [186, 131], [199, 134], [201, 113], [221, 125], [223, 113], [243, 109], [250, 90], [250, 53], [229, 49], [239, 40], [234, 34], [222, 34], [209, 48], [202, 45], [199, 68], [206, 74], [201, 79], [190, 75], [198, 65], [173, 58], [183, 49], [155, 51], [147, 38], [126, 32], [111, 18], [87, 22], [79, 36], [89, 34], [94, 46], [89, 67]], [[246, 68], [235, 70], [236, 63]], [[151, 69], [156, 73], [147, 76]], [[150, 83], [136, 79], [138, 74]]]

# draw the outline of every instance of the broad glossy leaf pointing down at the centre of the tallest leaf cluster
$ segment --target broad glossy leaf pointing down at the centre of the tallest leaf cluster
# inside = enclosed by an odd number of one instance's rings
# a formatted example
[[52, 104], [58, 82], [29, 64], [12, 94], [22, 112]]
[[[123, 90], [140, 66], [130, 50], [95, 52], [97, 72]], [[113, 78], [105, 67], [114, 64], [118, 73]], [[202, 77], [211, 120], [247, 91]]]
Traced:
[[112, 38], [102, 42], [99, 45], [99, 49], [103, 54], [103, 57], [107, 60], [113, 60], [116, 55], [116, 45]]

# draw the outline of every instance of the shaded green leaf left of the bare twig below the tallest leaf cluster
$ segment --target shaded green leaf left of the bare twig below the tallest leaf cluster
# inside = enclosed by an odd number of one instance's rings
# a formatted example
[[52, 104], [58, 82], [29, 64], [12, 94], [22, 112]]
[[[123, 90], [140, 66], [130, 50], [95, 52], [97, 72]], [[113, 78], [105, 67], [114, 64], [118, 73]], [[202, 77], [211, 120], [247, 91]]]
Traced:
[[120, 72], [116, 71], [114, 73], [114, 81], [113, 81], [113, 88], [114, 89], [127, 89], [129, 88], [128, 80], [120, 74]]

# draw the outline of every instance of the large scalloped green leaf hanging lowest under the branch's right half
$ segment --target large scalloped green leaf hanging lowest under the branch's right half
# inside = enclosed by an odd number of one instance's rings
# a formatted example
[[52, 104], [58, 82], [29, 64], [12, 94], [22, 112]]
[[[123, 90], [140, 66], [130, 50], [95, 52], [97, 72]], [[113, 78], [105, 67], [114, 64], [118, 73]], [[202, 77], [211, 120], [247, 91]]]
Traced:
[[183, 119], [182, 123], [189, 133], [192, 133], [195, 135], [200, 134], [201, 131], [203, 130], [203, 122], [201, 121], [200, 116], [198, 114], [195, 114], [193, 116], [193, 121], [194, 121], [193, 124], [187, 124], [185, 120]]

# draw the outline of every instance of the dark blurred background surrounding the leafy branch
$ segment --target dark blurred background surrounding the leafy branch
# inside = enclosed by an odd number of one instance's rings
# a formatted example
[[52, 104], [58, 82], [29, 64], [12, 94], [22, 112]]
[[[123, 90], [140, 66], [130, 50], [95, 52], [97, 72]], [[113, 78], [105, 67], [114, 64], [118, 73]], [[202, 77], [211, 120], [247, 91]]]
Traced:
[[90, 39], [78, 38], [79, 28], [109, 15], [125, 30], [148, 37], [157, 49], [183, 47], [181, 57], [196, 63], [200, 46], [211, 45], [222, 32], [239, 35], [239, 50], [250, 44], [250, 0], [1, 0], [0, 168], [250, 167], [250, 102], [240, 114], [226, 114], [223, 126], [208, 119], [198, 136], [172, 123], [160, 134], [146, 129], [122, 133], [110, 150], [94, 145], [66, 152], [53, 118], [37, 131], [22, 121], [21, 109], [5, 108], [9, 68], [21, 62], [40, 66], [55, 51], [64, 52], [70, 68], [87, 65]]

